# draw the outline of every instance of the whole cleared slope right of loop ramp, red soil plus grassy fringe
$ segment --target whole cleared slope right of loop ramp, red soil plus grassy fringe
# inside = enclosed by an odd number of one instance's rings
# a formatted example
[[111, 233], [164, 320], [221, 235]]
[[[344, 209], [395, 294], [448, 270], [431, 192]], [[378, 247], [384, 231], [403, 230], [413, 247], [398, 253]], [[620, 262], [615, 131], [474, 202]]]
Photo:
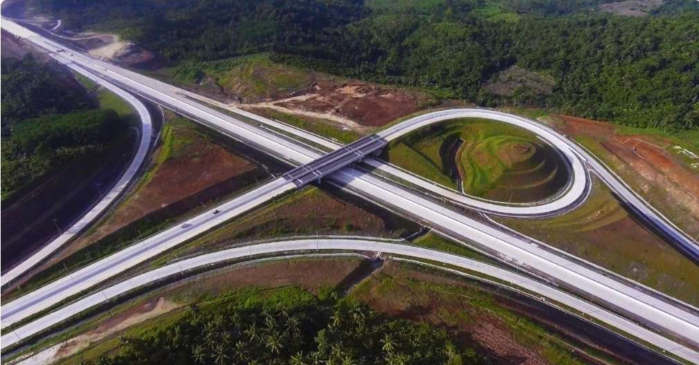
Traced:
[[589, 149], [691, 237], [699, 236], [699, 131], [622, 128], [567, 116], [544, 120]]

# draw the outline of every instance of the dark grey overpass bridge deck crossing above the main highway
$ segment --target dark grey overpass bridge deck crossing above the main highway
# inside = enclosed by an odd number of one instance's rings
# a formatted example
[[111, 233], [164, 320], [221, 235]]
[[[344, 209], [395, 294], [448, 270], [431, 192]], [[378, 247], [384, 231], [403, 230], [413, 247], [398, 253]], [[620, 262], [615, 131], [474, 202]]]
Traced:
[[367, 135], [351, 144], [329, 152], [315, 161], [298, 166], [282, 176], [287, 181], [291, 181], [296, 186], [301, 187], [314, 180], [320, 181], [322, 177], [336, 170], [361, 161], [364, 156], [370, 154], [377, 156], [386, 144], [388, 144], [388, 141], [379, 135]]

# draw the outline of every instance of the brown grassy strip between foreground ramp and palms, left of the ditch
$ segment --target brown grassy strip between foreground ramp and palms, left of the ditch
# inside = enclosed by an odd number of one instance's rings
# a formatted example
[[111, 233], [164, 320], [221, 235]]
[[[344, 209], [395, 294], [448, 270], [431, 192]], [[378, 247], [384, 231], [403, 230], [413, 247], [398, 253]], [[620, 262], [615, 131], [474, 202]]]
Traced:
[[[194, 306], [200, 311], [215, 308], [247, 293], [275, 297], [307, 290], [326, 297], [333, 290], [342, 290], [347, 278], [366, 271], [365, 262], [359, 257], [274, 260], [217, 271], [196, 281], [181, 281], [90, 321], [59, 345], [51, 358], [64, 358], [60, 364], [79, 364], [115, 354], [123, 336], [145, 334], [189, 315]], [[78, 333], [82, 334], [75, 336]]]

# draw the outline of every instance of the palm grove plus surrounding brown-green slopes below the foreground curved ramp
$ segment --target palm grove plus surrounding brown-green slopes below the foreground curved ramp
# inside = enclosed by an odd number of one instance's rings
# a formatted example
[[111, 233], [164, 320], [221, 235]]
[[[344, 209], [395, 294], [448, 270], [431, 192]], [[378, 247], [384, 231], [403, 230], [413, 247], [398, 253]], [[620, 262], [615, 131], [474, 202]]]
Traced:
[[[516, 357], [584, 364], [586, 355], [616, 363], [599, 349], [566, 340], [538, 317], [526, 318], [539, 311], [513, 310], [505, 294], [473, 281], [398, 262], [372, 272], [361, 269], [363, 262], [273, 260], [157, 290], [89, 325], [66, 345], [71, 357], [61, 364], [133, 363], [136, 356], [145, 363], [315, 364], [315, 358], [330, 358], [343, 364], [349, 358], [373, 364], [394, 357], [401, 364], [493, 364]], [[343, 297], [343, 285], [367, 275]], [[571, 347], [585, 355], [572, 355]]]

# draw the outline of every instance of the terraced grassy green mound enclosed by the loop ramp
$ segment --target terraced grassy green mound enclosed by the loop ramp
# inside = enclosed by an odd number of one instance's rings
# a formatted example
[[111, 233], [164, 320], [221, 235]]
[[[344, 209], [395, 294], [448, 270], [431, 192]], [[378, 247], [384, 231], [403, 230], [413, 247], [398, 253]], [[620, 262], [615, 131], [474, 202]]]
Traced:
[[438, 184], [502, 202], [544, 200], [568, 179], [552, 147], [520, 128], [478, 119], [410, 133], [391, 142], [382, 158]]

